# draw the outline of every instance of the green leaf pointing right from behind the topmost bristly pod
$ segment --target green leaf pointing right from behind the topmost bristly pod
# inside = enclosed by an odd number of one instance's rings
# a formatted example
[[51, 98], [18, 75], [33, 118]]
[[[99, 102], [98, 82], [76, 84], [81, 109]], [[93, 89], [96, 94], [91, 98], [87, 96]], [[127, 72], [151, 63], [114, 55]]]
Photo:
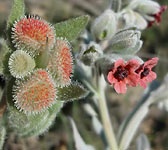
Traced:
[[88, 20], [89, 16], [85, 15], [57, 23], [54, 25], [56, 36], [66, 38], [68, 41], [73, 41], [85, 28]]

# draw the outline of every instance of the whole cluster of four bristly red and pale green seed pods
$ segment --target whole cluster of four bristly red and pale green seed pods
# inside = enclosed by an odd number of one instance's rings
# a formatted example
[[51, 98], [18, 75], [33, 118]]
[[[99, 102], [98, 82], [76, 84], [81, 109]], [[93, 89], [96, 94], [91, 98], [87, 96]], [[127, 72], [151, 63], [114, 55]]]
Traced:
[[51, 24], [35, 16], [16, 21], [11, 34], [16, 50], [8, 68], [15, 78], [15, 106], [26, 114], [39, 113], [57, 102], [56, 87], [71, 82], [71, 46], [56, 36]]

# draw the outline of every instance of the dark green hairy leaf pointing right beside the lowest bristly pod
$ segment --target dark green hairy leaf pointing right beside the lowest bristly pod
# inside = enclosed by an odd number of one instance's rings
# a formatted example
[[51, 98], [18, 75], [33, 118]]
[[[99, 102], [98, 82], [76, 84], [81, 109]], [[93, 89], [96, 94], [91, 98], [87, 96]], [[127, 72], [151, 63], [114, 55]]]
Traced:
[[59, 101], [73, 101], [77, 99], [84, 98], [88, 95], [88, 90], [86, 90], [82, 85], [75, 82], [65, 87], [59, 87], [57, 90], [57, 100]]

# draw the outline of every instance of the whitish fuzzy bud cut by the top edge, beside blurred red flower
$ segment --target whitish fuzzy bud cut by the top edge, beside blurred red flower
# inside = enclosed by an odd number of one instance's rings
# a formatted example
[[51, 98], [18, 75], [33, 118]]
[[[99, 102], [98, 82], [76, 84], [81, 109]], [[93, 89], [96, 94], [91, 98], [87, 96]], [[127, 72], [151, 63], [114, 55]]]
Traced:
[[137, 1], [135, 10], [142, 14], [153, 15], [160, 11], [160, 5], [155, 1], [141, 0]]

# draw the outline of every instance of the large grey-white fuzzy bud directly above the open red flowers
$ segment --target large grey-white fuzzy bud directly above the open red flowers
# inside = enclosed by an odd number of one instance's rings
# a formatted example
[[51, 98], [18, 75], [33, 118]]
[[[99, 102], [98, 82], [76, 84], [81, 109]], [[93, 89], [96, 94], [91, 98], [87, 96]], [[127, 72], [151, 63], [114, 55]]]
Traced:
[[111, 50], [120, 54], [135, 54], [142, 46], [141, 32], [138, 30], [123, 30], [118, 32], [111, 41]]

